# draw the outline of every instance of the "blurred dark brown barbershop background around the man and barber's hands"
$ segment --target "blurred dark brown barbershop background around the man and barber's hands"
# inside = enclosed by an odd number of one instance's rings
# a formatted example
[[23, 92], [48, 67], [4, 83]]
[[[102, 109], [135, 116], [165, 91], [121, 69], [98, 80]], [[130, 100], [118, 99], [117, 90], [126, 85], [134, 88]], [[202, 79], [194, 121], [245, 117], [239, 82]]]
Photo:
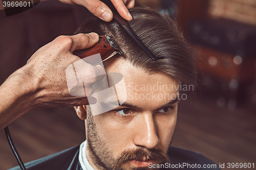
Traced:
[[[173, 145], [216, 162], [256, 164], [256, 0], [140, 0], [174, 18], [195, 49], [196, 95], [179, 104]], [[0, 83], [39, 47], [72, 35], [90, 14], [83, 7], [43, 1], [6, 17], [0, 11]], [[73, 108], [34, 109], [10, 126], [24, 162], [84, 139]], [[18, 165], [0, 131], [0, 169]], [[239, 168], [245, 169], [245, 168]], [[247, 169], [247, 168], [246, 168]]]

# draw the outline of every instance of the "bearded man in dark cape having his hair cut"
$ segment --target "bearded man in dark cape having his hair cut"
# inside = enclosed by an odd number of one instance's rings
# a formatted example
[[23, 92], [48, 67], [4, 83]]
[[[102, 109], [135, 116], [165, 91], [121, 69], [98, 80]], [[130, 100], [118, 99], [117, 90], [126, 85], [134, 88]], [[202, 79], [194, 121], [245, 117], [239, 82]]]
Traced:
[[[107, 73], [123, 75], [127, 100], [119, 107], [97, 115], [93, 104], [73, 103], [77, 115], [85, 120], [87, 140], [79, 147], [32, 161], [26, 164], [28, 169], [218, 169], [218, 166], [209, 167], [215, 164], [200, 154], [170, 147], [177, 119], [179, 87], [196, 84], [194, 57], [182, 34], [174, 21], [157, 12], [143, 8], [134, 8], [130, 12], [134, 17], [129, 22], [131, 28], [161, 59], [154, 61], [145, 55], [117, 23], [95, 18], [86, 21], [77, 33], [93, 30], [99, 35], [112, 35], [121, 48], [124, 55], [115, 55], [103, 65]], [[71, 48], [71, 51], [76, 49]], [[39, 64], [35, 58], [28, 64], [33, 62], [34, 67]], [[96, 69], [89, 64], [88, 67], [102, 73], [100, 67]], [[86, 68], [85, 72], [88, 70]], [[96, 81], [99, 80], [93, 83]], [[33, 89], [40, 90], [38, 87]], [[44, 93], [49, 92], [54, 93], [54, 90]]]

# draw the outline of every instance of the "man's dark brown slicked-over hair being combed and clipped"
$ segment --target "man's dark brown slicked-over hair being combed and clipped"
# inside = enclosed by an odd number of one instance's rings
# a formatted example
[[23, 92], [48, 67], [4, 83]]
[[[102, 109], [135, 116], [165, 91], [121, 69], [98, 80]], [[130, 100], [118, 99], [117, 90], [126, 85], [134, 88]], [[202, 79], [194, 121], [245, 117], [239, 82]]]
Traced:
[[182, 84], [196, 85], [195, 57], [177, 23], [167, 14], [162, 15], [152, 9], [136, 7], [129, 11], [134, 18], [129, 21], [132, 30], [156, 57], [163, 59], [154, 61], [147, 56], [115, 21], [104, 22], [92, 17], [78, 28], [76, 34], [96, 32], [112, 35], [124, 53], [122, 57], [134, 66], [149, 74], [163, 72]]

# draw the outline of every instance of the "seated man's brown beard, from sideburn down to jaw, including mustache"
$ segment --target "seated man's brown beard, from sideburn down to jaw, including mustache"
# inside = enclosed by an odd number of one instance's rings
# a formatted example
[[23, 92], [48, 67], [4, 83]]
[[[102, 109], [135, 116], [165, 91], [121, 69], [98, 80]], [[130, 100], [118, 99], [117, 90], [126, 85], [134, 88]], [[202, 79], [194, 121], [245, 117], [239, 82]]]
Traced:
[[[93, 115], [89, 107], [87, 108], [87, 151], [92, 163], [100, 170], [124, 170], [124, 163], [127, 161], [140, 161], [143, 159], [154, 160], [154, 164], [159, 164], [163, 161], [169, 162], [168, 156], [156, 149], [146, 149], [137, 147], [135, 149], [125, 149], [117, 159], [113, 157], [113, 153], [108, 149], [104, 140], [97, 134], [96, 125], [93, 122]], [[154, 169], [149, 167], [133, 167], [133, 170], [139, 169]], [[157, 168], [155, 168], [157, 169]]]

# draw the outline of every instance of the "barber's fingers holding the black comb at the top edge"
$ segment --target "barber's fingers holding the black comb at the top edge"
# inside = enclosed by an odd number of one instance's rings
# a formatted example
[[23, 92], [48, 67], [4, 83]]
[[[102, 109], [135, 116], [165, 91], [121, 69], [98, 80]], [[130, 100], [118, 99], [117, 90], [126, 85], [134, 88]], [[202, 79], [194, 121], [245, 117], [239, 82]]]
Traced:
[[[92, 14], [104, 21], [111, 21], [113, 18], [113, 13], [99, 0], [59, 0], [66, 4], [78, 4], [86, 7]], [[135, 0], [111, 0], [112, 4], [117, 9], [117, 12], [126, 20], [132, 20], [133, 17], [127, 8], [133, 8]]]

